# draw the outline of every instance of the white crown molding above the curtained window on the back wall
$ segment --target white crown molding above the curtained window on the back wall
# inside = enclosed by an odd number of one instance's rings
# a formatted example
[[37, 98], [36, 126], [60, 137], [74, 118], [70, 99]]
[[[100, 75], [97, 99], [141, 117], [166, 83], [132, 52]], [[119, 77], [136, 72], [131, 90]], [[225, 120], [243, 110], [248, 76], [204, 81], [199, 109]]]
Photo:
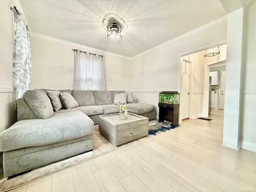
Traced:
[[42, 35], [42, 34], [38, 34], [38, 33], [34, 33], [34, 32], [30, 32], [30, 36], [35, 37], [35, 38], [48, 40], [48, 41], [52, 41], [52, 42], [56, 42], [56, 43], [60, 43], [60, 44], [64, 44], [64, 45], [68, 45], [68, 46], [72, 46], [74, 48], [79, 48], [79, 49], [83, 49], [83, 50], [97, 52], [98, 54], [105, 54], [105, 55], [110, 55], [110, 56], [130, 60], [130, 57], [127, 57], [127, 56], [123, 56], [123, 55], [119, 55], [119, 54], [116, 54], [116, 53], [112, 53], [112, 52], [108, 52], [108, 51], [88, 47], [88, 46], [77, 44], [77, 43], [72, 43], [72, 42], [69, 42], [69, 41], [57, 39], [57, 38], [54, 38], [54, 37], [50, 37], [50, 36], [46, 36], [46, 35]]

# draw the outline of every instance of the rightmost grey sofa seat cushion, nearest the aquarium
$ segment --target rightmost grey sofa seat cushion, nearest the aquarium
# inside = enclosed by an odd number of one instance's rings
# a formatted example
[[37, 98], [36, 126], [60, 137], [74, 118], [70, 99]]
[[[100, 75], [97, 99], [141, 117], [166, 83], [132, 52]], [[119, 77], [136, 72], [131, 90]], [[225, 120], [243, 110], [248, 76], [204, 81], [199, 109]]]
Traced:
[[128, 112], [136, 114], [145, 114], [156, 110], [156, 106], [147, 103], [128, 103], [126, 104]]

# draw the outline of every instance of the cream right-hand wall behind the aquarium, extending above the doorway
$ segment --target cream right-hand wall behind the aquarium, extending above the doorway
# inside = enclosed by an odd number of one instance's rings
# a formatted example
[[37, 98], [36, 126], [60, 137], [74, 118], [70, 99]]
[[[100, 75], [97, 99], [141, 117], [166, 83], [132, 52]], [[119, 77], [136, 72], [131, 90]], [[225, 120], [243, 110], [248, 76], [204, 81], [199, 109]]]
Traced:
[[158, 106], [158, 93], [177, 91], [178, 55], [226, 39], [223, 22], [132, 60], [131, 89], [140, 102]]

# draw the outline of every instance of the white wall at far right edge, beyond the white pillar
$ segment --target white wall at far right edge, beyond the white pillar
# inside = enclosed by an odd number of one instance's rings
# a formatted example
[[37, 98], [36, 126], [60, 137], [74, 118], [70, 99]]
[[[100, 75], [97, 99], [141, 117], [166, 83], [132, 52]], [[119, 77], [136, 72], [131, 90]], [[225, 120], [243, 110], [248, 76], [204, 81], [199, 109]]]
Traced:
[[240, 147], [256, 152], [256, 1], [244, 9]]

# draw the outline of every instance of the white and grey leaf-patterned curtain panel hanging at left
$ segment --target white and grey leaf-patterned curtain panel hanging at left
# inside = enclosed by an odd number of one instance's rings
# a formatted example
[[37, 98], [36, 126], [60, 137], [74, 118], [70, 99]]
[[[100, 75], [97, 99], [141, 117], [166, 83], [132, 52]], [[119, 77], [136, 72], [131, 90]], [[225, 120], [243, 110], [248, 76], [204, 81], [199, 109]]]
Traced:
[[15, 99], [21, 98], [30, 89], [31, 82], [31, 48], [28, 26], [22, 14], [14, 11], [14, 58], [12, 78]]

